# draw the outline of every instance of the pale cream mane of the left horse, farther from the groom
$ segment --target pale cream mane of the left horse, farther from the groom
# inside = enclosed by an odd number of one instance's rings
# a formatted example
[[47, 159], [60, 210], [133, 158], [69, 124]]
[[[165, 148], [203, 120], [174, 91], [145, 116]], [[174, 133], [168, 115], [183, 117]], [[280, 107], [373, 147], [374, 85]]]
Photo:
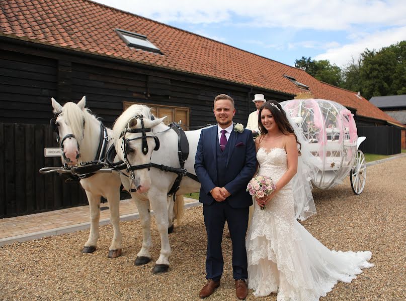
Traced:
[[79, 140], [84, 135], [88, 135], [84, 132], [84, 121], [85, 124], [91, 124], [93, 120], [96, 120], [98, 123], [100, 123], [100, 120], [98, 120], [96, 116], [91, 114], [89, 109], [83, 111], [77, 106], [77, 104], [73, 102], [65, 103], [62, 109], [62, 115], [65, 121], [70, 126], [72, 134], [75, 135], [76, 139]]

